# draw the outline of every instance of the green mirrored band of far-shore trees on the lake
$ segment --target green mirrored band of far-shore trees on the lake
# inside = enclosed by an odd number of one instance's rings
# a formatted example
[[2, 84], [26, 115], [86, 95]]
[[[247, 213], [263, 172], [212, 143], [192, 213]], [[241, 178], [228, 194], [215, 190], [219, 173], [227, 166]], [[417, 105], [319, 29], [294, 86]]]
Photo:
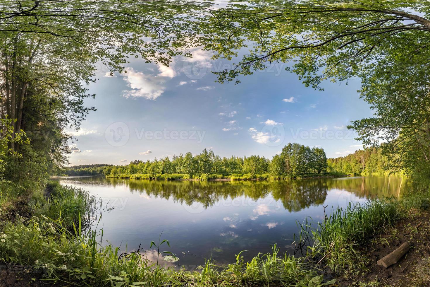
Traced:
[[[71, 177], [83, 179], [83, 177]], [[282, 202], [289, 212], [297, 212], [311, 205], [326, 201], [329, 190], [346, 191], [357, 198], [399, 197], [405, 190], [403, 178], [397, 176], [362, 176], [350, 178], [319, 178], [292, 181], [156, 181], [140, 179], [112, 179], [92, 177], [83, 179], [88, 185], [125, 186], [131, 193], [146, 194], [154, 198], [173, 200], [178, 204], [192, 205], [196, 202], [205, 209], [221, 200], [239, 197], [257, 201], [273, 196]], [[67, 182], [68, 180], [64, 180]]]

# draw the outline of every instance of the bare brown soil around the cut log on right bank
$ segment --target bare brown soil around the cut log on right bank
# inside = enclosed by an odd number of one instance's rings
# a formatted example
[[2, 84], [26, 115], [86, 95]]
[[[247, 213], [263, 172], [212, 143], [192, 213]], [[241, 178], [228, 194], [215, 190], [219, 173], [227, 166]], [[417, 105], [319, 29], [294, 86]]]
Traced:
[[[405, 233], [408, 234], [404, 235]], [[363, 283], [378, 281], [381, 286], [415, 287], [411, 282], [414, 276], [412, 272], [423, 259], [430, 256], [430, 212], [418, 213], [411, 210], [411, 218], [397, 222], [393, 228], [386, 231], [381, 230], [381, 235], [393, 236], [373, 239], [363, 250], [364, 254], [369, 254], [369, 262], [366, 265], [368, 270], [359, 272], [358, 275], [337, 278], [340, 286], [363, 286]], [[409, 242], [411, 249], [397, 264], [388, 268], [376, 264], [379, 259], [396, 250], [405, 241]], [[430, 286], [430, 282], [428, 283], [424, 286]]]

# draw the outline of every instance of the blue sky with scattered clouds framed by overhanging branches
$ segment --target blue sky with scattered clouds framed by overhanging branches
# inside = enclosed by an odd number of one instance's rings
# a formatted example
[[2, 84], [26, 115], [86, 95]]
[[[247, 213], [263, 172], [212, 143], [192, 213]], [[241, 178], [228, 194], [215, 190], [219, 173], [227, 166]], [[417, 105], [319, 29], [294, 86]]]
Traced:
[[127, 73], [99, 66], [89, 86], [95, 106], [79, 131], [69, 160], [75, 164], [126, 164], [212, 148], [221, 156], [260, 154], [270, 159], [288, 142], [324, 148], [328, 157], [362, 148], [345, 126], [372, 115], [356, 92], [360, 81], [326, 81], [324, 91], [306, 88], [277, 64], [215, 83], [212, 70], [230, 68], [194, 49], [193, 59], [175, 58], [170, 67], [131, 59]]

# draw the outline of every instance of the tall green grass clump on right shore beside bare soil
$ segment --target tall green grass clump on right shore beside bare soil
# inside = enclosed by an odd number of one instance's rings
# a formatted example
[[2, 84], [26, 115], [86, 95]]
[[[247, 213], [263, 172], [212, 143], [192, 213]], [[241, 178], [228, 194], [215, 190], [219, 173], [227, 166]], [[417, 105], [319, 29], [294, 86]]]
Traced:
[[418, 181], [402, 198], [381, 198], [335, 209], [316, 226], [303, 225], [300, 238], [303, 242], [313, 242], [308, 248], [309, 258], [342, 272], [365, 263], [363, 247], [378, 232], [410, 217], [411, 211], [428, 210], [429, 204], [430, 185]]

